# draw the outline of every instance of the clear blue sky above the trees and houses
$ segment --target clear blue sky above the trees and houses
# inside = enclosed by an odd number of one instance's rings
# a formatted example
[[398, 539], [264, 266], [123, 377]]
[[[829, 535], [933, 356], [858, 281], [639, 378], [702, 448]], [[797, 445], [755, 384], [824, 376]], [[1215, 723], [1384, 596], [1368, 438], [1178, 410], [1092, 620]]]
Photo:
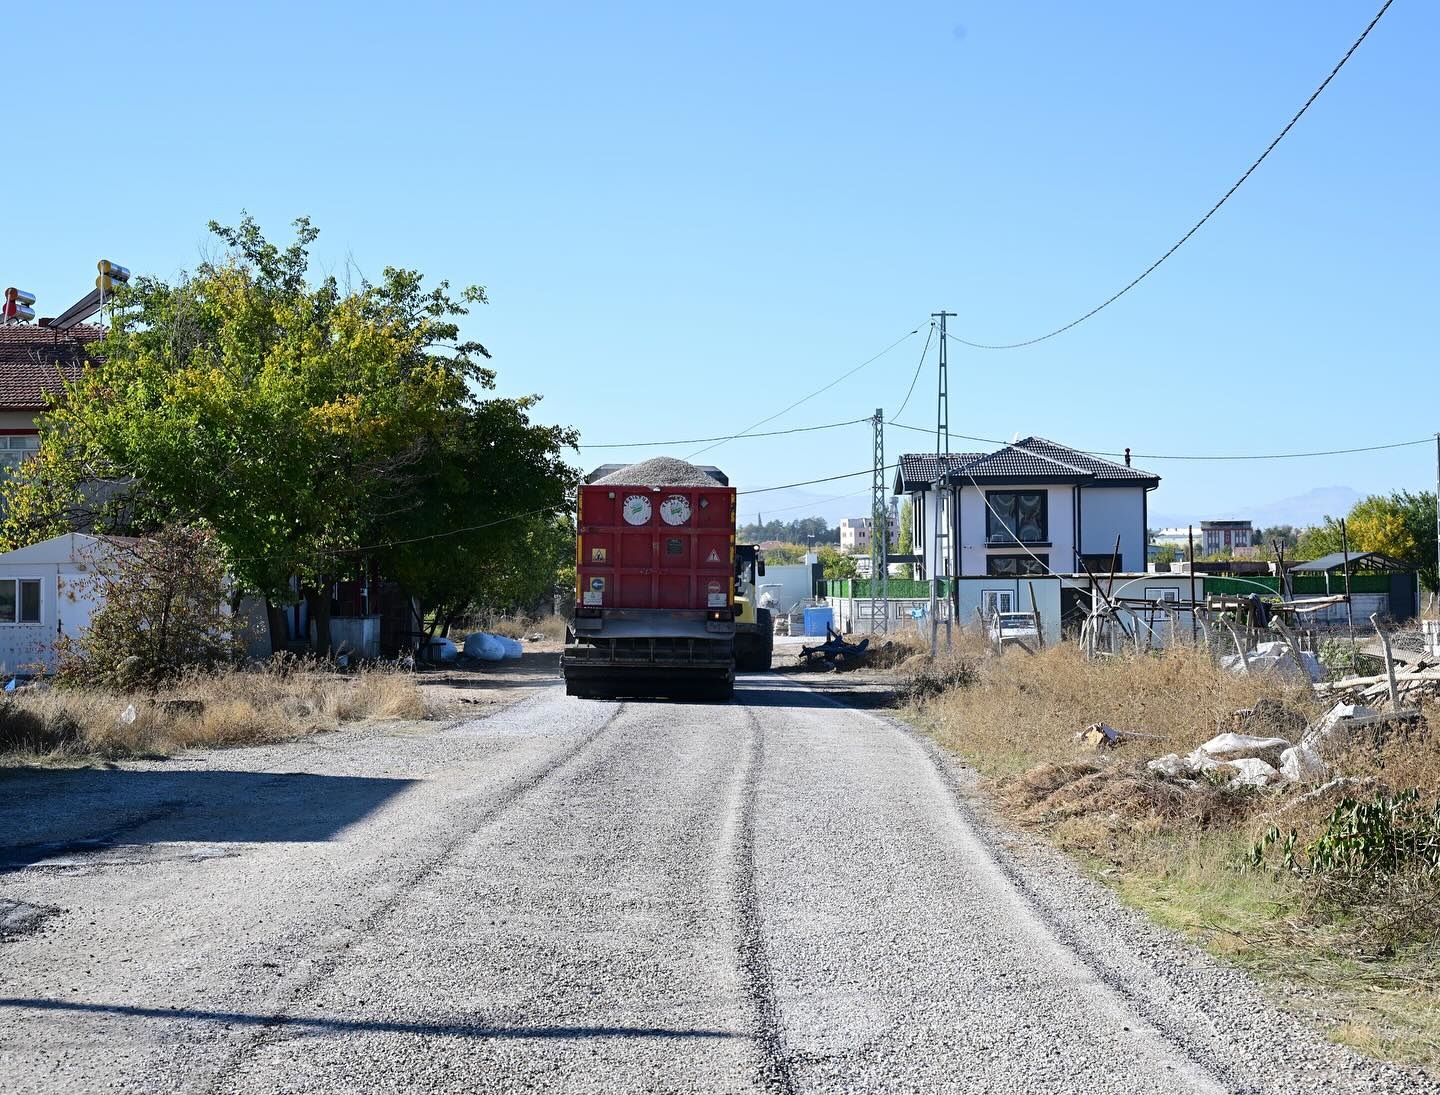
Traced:
[[[1014, 341], [1097, 304], [1378, 6], [32, 7], [3, 78], [23, 121], [0, 281], [53, 314], [96, 258], [174, 274], [210, 218], [248, 209], [282, 236], [308, 215], [323, 271], [487, 285], [468, 333], [500, 390], [544, 395], [586, 442], [733, 432], [919, 327], [766, 428], [890, 416], [929, 313]], [[1093, 320], [1024, 350], [952, 346], [952, 429], [1145, 454], [1434, 434], [1437, 32], [1440, 7], [1398, 0], [1210, 225]], [[901, 421], [933, 425], [933, 365]], [[926, 447], [890, 434], [891, 454]], [[706, 458], [753, 488], [865, 468], [870, 434]], [[1192, 517], [1434, 481], [1424, 447], [1138, 462], [1164, 477], [1152, 510]]]

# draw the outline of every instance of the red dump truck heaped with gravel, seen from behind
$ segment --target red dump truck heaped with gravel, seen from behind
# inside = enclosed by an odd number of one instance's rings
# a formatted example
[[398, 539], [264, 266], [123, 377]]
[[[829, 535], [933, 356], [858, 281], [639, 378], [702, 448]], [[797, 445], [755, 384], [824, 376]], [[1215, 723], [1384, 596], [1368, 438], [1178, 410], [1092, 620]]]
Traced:
[[719, 468], [660, 457], [580, 487], [566, 692], [590, 699], [730, 699], [734, 488]]

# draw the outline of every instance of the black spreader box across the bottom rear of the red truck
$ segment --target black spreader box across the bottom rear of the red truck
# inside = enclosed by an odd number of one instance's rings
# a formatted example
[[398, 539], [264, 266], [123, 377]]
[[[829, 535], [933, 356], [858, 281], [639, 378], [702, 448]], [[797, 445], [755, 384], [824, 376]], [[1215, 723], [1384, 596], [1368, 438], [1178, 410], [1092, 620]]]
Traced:
[[729, 641], [602, 638], [570, 643], [560, 658], [569, 696], [727, 700], [734, 693]]

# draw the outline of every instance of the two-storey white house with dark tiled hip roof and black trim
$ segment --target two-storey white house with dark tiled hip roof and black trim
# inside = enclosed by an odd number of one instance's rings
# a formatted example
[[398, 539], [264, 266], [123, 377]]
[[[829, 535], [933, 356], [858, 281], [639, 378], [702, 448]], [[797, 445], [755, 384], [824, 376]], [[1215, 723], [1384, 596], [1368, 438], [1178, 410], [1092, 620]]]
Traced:
[[[916, 576], [1022, 578], [1143, 571], [1149, 493], [1159, 477], [1041, 437], [995, 452], [906, 454], [894, 493], [914, 517]], [[952, 550], [935, 558], [936, 522]], [[1116, 553], [1116, 539], [1119, 552]]]

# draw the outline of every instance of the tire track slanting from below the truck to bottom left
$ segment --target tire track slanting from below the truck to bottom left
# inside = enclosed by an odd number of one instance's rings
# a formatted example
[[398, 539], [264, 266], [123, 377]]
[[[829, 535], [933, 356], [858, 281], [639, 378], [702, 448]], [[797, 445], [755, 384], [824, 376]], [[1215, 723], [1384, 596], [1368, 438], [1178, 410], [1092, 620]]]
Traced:
[[[592, 729], [589, 733], [580, 736], [569, 748], [552, 756], [550, 759], [541, 762], [530, 772], [521, 775], [508, 788], [505, 788], [487, 808], [484, 808], [469, 824], [459, 828], [452, 837], [442, 841], [429, 856], [419, 860], [412, 870], [406, 872], [403, 876], [395, 879], [389, 896], [377, 902], [361, 921], [359, 921], [351, 931], [356, 937], [363, 937], [374, 932], [406, 899], [408, 893], [423, 883], [428, 877], [435, 875], [467, 841], [472, 840], [485, 828], [491, 827], [500, 820], [507, 811], [516, 807], [521, 800], [524, 800], [531, 791], [539, 788], [546, 781], [559, 775], [564, 768], [567, 768], [573, 761], [582, 756], [589, 746], [599, 741], [606, 730], [609, 730], [615, 722], [621, 718], [629, 705], [619, 703], [615, 709], [605, 718], [605, 720]], [[347, 944], [348, 947], [348, 944]], [[209, 1078], [204, 1089], [209, 1092], [225, 1092], [229, 1089], [230, 1081], [236, 1072], [245, 1065], [245, 1062], [264, 1049], [268, 1043], [281, 1037], [285, 1029], [291, 1024], [292, 1019], [289, 1011], [298, 1007], [304, 1000], [314, 996], [320, 987], [330, 980], [336, 971], [343, 965], [346, 955], [343, 952], [336, 952], [328, 957], [315, 960], [311, 973], [294, 984], [289, 988], [289, 1003], [281, 1009], [271, 1013], [264, 1024], [256, 1030], [253, 1036], [246, 1039], [239, 1045], [226, 1060], [216, 1069], [216, 1072]]]

